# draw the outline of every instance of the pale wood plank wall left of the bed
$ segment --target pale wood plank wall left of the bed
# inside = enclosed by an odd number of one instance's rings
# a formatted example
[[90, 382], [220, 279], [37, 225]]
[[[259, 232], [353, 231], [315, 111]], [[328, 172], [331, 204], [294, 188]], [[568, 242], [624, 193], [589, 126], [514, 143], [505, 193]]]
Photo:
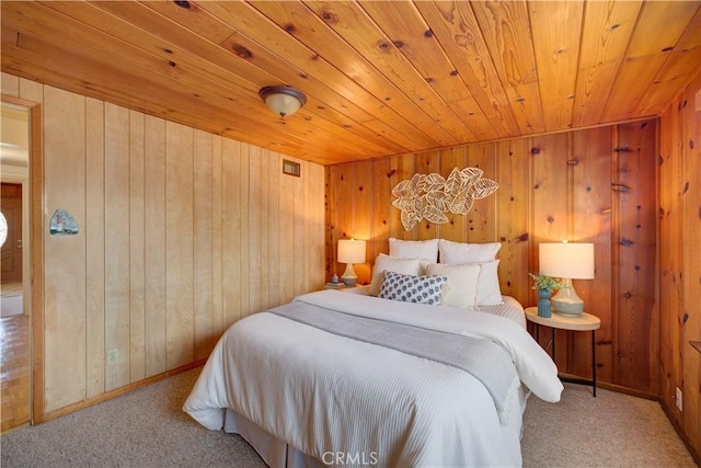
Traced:
[[[203, 359], [323, 286], [323, 167], [284, 175], [280, 153], [7, 73], [2, 92], [43, 109], [46, 413]], [[56, 208], [79, 235], [48, 235]]]

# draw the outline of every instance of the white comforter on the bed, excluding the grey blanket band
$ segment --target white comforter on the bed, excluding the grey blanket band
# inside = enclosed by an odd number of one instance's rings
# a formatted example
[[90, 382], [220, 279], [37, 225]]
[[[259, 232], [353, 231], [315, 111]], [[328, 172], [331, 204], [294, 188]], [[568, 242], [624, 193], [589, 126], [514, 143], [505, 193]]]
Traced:
[[[545, 401], [560, 399], [550, 356], [503, 317], [335, 290], [297, 300], [491, 339], [510, 353], [528, 389]], [[223, 409], [231, 408], [323, 460], [341, 452], [379, 466], [519, 466], [518, 386], [507, 420], [499, 421], [484, 386], [463, 370], [262, 312], [225, 333], [183, 409], [220, 430]]]

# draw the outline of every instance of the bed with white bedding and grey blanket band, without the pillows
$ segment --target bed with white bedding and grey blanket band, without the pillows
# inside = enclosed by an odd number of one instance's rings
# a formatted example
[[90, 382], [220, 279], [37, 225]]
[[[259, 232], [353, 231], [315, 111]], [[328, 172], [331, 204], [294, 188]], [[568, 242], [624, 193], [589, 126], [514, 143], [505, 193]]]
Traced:
[[[376, 273], [381, 292], [392, 275], [449, 276]], [[372, 286], [306, 294], [238, 321], [184, 411], [241, 434], [272, 467], [520, 466], [527, 399], [556, 402], [563, 389], [522, 307], [508, 296], [415, 304]]]

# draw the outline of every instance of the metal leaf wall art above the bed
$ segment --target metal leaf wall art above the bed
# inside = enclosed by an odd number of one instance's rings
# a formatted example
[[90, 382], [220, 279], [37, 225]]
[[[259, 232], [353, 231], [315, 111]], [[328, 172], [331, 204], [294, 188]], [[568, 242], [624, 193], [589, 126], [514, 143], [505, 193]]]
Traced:
[[486, 198], [499, 185], [490, 179], [482, 179], [478, 168], [455, 168], [448, 179], [440, 174], [414, 174], [401, 181], [392, 195], [397, 197], [392, 206], [402, 210], [402, 225], [407, 231], [422, 219], [433, 224], [448, 222], [446, 213], [467, 215], [475, 199]]

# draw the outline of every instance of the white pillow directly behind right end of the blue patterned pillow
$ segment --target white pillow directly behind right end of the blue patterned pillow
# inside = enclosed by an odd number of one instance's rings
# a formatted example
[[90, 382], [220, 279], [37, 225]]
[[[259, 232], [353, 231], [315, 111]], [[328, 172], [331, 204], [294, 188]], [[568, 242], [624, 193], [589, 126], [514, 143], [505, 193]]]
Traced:
[[474, 307], [478, 301], [478, 282], [482, 267], [479, 263], [470, 265], [447, 265], [432, 263], [426, 269], [427, 275], [446, 276], [448, 287], [443, 295], [441, 306]]

